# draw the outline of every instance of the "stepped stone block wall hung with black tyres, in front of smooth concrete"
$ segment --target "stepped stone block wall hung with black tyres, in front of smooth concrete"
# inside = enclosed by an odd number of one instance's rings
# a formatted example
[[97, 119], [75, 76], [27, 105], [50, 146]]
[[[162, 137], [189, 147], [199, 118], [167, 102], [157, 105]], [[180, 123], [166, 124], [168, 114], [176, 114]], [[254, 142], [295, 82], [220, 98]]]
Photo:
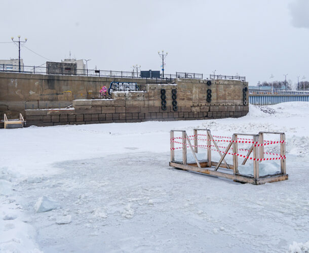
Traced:
[[[44, 126], [241, 117], [249, 110], [243, 105], [247, 86], [234, 80], [212, 80], [208, 86], [207, 80], [179, 79], [175, 85], [146, 85], [145, 92], [114, 92], [112, 99], [73, 100], [72, 109], [25, 110], [25, 118], [28, 126]], [[212, 100], [207, 102], [210, 88]], [[161, 107], [161, 89], [166, 90], [166, 110]], [[177, 111], [172, 106], [172, 89], [177, 90]]]

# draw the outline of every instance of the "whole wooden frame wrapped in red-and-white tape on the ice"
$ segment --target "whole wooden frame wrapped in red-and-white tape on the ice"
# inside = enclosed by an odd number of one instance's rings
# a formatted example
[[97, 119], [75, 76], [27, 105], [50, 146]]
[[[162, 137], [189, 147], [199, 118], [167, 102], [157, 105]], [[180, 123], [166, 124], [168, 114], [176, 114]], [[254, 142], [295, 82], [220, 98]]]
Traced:
[[[207, 160], [198, 160], [196, 153], [198, 153], [198, 132], [199, 131], [206, 131], [207, 137]], [[182, 136], [179, 139], [182, 139], [182, 162], [181, 161], [175, 161], [175, 147], [174, 147], [174, 132], [181, 132]], [[280, 160], [281, 160], [281, 172], [277, 174], [272, 175], [265, 175], [265, 176], [259, 176], [259, 162], [264, 160], [264, 134], [279, 134], [280, 135]], [[248, 160], [248, 157], [251, 153], [253, 153], [253, 176], [246, 176], [242, 175], [238, 171], [238, 143], [242, 141], [238, 141], [239, 136], [249, 136], [252, 137], [252, 141], [249, 141], [248, 143], [252, 143], [250, 149], [248, 150], [248, 153], [246, 156], [240, 155], [241, 157], [245, 157], [245, 159], [242, 162], [242, 165], [246, 163]], [[236, 182], [243, 182], [243, 183], [251, 183], [254, 185], [261, 185], [265, 183], [272, 183], [277, 181], [283, 181], [288, 180], [288, 174], [286, 174], [286, 158], [285, 158], [285, 134], [284, 133], [275, 133], [275, 132], [259, 132], [257, 135], [254, 134], [233, 134], [233, 137], [231, 138], [231, 141], [228, 141], [229, 144], [225, 148], [224, 152], [219, 150], [219, 147], [214, 140], [211, 132], [209, 129], [194, 129], [194, 145], [192, 146], [189, 137], [186, 133], [186, 131], [182, 130], [171, 130], [170, 138], [171, 138], [171, 161], [169, 163], [170, 166], [184, 170], [184, 171], [192, 171], [192, 172], [198, 172], [198, 173], [204, 173], [211, 176], [231, 179]], [[214, 144], [214, 147], [216, 148], [216, 151], [220, 154], [220, 160], [218, 162], [212, 161], [211, 159], [211, 143]], [[247, 143], [247, 142], [246, 142]], [[271, 143], [273, 144], [273, 143]], [[267, 144], [266, 144], [267, 145]], [[196, 162], [187, 162], [187, 146], [190, 148], [195, 161]], [[228, 153], [230, 148], [233, 148], [233, 153]], [[225, 161], [225, 155], [226, 154], [232, 154], [233, 155], [233, 164], [228, 164]], [[267, 158], [265, 158], [267, 160]], [[222, 164], [223, 162], [223, 164]], [[220, 171], [218, 169], [220, 168]], [[223, 170], [221, 170], [223, 169]], [[233, 173], [231, 173], [231, 170], [233, 170]]]

